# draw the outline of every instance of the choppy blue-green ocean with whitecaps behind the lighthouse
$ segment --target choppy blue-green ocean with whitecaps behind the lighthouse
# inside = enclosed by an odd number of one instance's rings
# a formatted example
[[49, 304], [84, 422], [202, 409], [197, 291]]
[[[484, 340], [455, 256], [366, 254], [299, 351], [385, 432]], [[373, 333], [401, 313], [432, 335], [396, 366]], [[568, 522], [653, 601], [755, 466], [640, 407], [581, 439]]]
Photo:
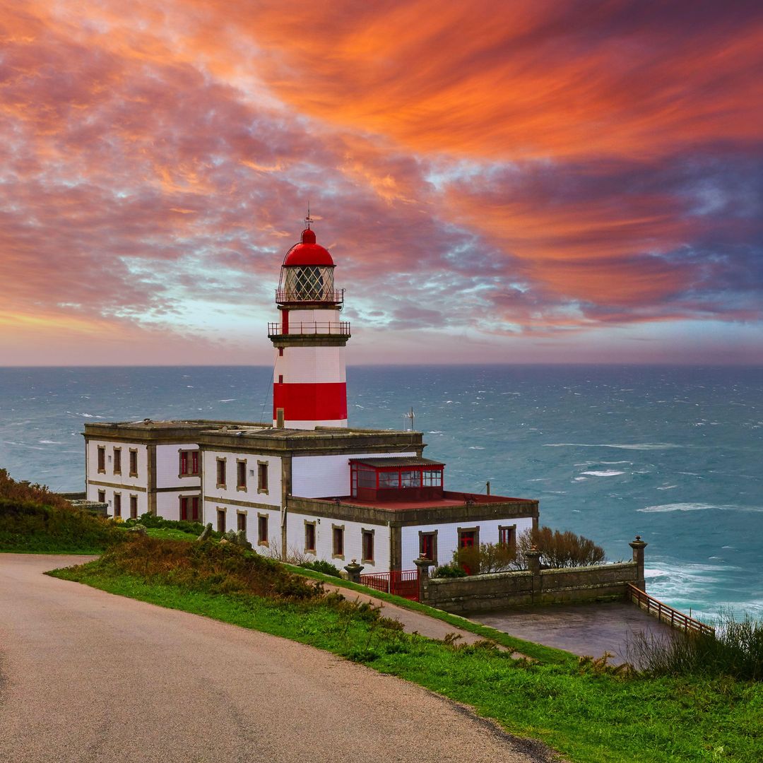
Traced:
[[[488, 365], [348, 369], [351, 426], [414, 410], [446, 488], [540, 500], [610, 561], [646, 549], [649, 592], [698, 617], [763, 618], [763, 368]], [[0, 369], [0, 467], [83, 489], [82, 424], [263, 421], [272, 368]]]

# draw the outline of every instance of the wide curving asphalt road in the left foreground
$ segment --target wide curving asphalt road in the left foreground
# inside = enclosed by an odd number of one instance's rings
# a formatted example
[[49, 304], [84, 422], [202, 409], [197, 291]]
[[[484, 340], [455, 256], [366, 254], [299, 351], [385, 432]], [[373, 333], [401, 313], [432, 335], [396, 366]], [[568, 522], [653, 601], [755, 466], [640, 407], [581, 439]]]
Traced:
[[537, 763], [455, 703], [309, 646], [0, 554], [0, 761]]

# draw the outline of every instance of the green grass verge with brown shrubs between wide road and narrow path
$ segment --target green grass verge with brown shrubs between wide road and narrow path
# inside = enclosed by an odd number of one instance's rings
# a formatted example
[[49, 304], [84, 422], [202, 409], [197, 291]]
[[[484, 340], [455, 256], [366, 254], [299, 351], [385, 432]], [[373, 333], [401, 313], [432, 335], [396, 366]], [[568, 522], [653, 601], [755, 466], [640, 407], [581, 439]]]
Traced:
[[[556, 650], [539, 648], [533, 655], [539, 662], [526, 662], [497, 649], [447, 645], [401, 633], [369, 607], [336, 596], [311, 597], [291, 581], [293, 576], [281, 581], [278, 565], [262, 564], [236, 549], [209, 544], [204, 551], [175, 543], [162, 552], [155, 544], [144, 539], [53, 575], [364, 662], [472, 705], [513, 734], [541, 739], [575, 763], [763, 760], [761, 684], [731, 678], [618, 678], [591, 666], [581, 669]], [[130, 559], [139, 546], [145, 557]], [[185, 566], [175, 570], [172, 559]], [[136, 574], [143, 565], [146, 575]], [[127, 567], [132, 574], [126, 574]], [[259, 577], [280, 593], [247, 593]], [[226, 588], [233, 591], [221, 593]], [[461, 618], [454, 620], [464, 626]]]

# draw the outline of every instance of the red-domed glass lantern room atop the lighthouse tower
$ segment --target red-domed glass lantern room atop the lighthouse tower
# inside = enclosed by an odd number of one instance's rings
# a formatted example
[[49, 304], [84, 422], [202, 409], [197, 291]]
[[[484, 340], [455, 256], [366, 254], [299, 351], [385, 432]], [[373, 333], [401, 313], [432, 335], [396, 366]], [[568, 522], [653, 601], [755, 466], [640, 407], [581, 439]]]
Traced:
[[324, 246], [315, 241], [315, 231], [307, 227], [301, 240], [284, 257], [275, 301], [278, 304], [341, 304], [343, 290], [333, 285], [334, 263]]

